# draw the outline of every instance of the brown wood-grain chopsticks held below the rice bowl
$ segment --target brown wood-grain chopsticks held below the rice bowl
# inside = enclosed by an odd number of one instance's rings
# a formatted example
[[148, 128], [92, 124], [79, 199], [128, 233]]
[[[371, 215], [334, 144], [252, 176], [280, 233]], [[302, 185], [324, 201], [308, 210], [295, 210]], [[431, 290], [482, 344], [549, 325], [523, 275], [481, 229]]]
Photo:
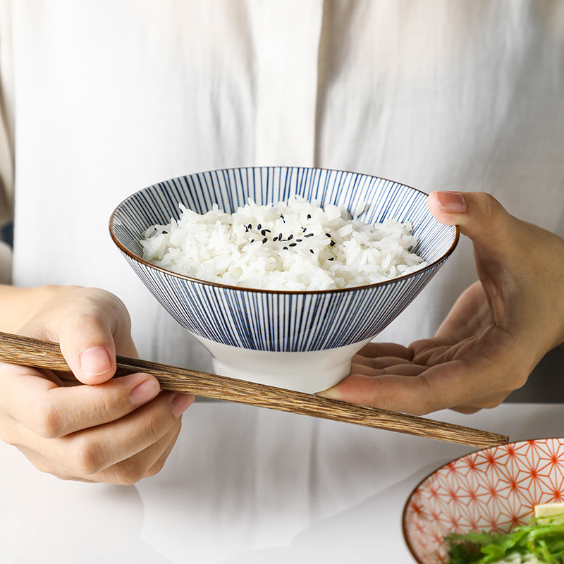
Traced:
[[[40, 369], [71, 372], [58, 343], [39, 341], [11, 333], [0, 332], [0, 360]], [[147, 372], [155, 376], [161, 389], [166, 391], [191, 393], [205, 398], [255, 405], [321, 419], [332, 419], [479, 448], [509, 442], [507, 436], [489, 431], [322, 398], [309, 393], [255, 384], [226, 376], [207, 374], [197, 370], [168, 366], [148, 360], [118, 356], [117, 364], [116, 376]]]

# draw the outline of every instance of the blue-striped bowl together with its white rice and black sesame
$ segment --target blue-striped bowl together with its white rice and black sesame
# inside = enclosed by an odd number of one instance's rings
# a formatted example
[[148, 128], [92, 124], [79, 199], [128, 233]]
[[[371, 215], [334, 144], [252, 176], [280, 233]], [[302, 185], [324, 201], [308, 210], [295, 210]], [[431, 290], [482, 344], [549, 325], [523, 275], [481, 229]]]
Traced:
[[459, 236], [420, 190], [301, 167], [165, 180], [121, 202], [109, 228], [217, 374], [307, 393], [347, 376]]

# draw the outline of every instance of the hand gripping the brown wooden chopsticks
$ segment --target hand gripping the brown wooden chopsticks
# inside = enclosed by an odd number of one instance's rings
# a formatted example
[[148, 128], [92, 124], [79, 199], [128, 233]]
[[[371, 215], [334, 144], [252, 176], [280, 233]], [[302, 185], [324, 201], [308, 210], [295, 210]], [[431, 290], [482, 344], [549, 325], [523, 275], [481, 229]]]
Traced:
[[19, 333], [60, 342], [73, 374], [1, 362], [0, 438], [64, 479], [132, 484], [156, 474], [193, 396], [161, 392], [149, 374], [112, 379], [116, 351], [137, 356], [116, 296], [86, 288], [52, 293]]

